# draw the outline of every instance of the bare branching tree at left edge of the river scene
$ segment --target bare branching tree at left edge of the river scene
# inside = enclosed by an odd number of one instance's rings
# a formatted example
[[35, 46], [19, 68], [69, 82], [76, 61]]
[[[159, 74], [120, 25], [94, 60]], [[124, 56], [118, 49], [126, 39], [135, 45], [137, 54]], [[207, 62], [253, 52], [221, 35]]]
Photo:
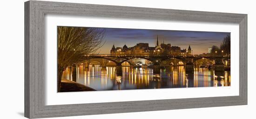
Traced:
[[58, 91], [63, 71], [83, 61], [82, 57], [101, 48], [104, 30], [90, 27], [58, 26]]

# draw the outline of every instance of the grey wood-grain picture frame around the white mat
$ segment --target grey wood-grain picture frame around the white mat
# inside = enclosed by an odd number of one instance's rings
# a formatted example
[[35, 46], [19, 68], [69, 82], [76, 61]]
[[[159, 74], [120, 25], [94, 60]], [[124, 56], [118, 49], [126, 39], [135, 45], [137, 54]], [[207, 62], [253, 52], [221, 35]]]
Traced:
[[[154, 19], [239, 24], [239, 96], [47, 106], [44, 103], [46, 71], [44, 17], [46, 14], [108, 17], [114, 19]], [[25, 117], [27, 118], [235, 105], [247, 105], [247, 14], [34, 0], [25, 2]]]

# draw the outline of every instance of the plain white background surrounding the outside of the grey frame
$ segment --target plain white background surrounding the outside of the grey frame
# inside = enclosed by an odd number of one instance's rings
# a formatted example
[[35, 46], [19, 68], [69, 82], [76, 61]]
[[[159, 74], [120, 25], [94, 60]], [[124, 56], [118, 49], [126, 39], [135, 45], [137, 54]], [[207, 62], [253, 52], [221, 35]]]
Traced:
[[[4, 0], [0, 6], [0, 119], [25, 119], [24, 1]], [[54, 1], [54, 0], [52, 0]], [[55, 0], [56, 1], [56, 0]], [[68, 0], [59, 0], [68, 1]], [[69, 0], [70, 1], [70, 0]], [[255, 119], [256, 12], [254, 0], [73, 0], [88, 4], [137, 6], [248, 14], [248, 105], [117, 113], [54, 119]]]

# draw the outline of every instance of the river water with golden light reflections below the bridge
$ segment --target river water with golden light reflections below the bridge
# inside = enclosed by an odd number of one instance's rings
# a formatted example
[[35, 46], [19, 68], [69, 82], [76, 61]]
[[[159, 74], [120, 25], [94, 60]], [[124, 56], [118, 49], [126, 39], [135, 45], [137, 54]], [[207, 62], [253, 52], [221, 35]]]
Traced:
[[[62, 78], [72, 80], [70, 69]], [[185, 72], [184, 66], [165, 67], [160, 73], [151, 68], [122, 67], [122, 75], [116, 75], [115, 67], [77, 67], [77, 82], [96, 90], [126, 90], [154, 88], [188, 88], [230, 86], [230, 71], [216, 72], [208, 68], [195, 68]]]

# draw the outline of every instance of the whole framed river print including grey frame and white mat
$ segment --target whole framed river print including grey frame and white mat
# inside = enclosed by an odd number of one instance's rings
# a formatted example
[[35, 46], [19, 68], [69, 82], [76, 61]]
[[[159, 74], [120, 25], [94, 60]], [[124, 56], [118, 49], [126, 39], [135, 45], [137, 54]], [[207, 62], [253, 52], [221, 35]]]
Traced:
[[247, 105], [247, 15], [25, 2], [25, 117]]

